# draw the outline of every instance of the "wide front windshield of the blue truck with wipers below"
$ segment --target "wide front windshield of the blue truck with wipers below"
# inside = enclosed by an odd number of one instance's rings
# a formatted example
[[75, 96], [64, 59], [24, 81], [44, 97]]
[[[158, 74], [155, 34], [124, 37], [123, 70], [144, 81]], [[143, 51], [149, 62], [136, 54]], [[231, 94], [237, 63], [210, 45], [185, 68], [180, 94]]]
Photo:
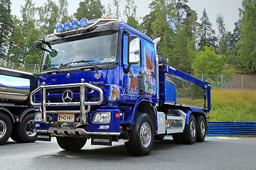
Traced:
[[[41, 69], [106, 64], [117, 59], [118, 33], [104, 31], [50, 41], [58, 55], [44, 52]], [[46, 49], [50, 51], [46, 45]]]

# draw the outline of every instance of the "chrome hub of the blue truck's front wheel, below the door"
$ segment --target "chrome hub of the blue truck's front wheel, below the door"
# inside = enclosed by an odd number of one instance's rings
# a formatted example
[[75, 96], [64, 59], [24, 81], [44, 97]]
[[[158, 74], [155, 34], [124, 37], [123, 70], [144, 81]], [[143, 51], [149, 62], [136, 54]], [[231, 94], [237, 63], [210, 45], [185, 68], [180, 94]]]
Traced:
[[149, 123], [142, 124], [139, 132], [140, 141], [143, 147], [148, 147], [151, 142], [151, 127]]

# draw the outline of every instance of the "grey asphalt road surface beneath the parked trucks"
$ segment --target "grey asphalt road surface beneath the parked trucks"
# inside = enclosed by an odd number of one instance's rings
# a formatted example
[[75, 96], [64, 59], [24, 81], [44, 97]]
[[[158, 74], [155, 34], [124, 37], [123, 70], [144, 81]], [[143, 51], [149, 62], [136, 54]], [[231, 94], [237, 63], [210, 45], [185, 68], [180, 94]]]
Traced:
[[256, 137], [208, 137], [194, 145], [177, 145], [170, 137], [154, 142], [146, 157], [127, 154], [124, 144], [91, 146], [66, 152], [57, 142], [0, 146], [0, 169], [256, 169]]

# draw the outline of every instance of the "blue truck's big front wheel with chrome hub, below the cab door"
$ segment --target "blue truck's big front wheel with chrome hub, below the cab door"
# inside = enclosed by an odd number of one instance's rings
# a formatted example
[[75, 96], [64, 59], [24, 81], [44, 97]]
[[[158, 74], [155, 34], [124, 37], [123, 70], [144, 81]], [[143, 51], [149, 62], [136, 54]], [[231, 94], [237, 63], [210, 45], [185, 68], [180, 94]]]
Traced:
[[151, 152], [154, 144], [154, 126], [146, 113], [139, 113], [132, 130], [129, 131], [129, 141], [125, 148], [129, 154], [144, 156]]

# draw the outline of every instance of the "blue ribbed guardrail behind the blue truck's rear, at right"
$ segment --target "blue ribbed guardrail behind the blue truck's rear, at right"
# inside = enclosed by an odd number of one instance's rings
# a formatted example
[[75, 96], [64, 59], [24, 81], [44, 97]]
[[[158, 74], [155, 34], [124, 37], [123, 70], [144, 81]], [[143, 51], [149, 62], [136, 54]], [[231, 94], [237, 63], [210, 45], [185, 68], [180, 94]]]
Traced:
[[210, 122], [208, 135], [256, 135], [256, 123], [242, 122]]

